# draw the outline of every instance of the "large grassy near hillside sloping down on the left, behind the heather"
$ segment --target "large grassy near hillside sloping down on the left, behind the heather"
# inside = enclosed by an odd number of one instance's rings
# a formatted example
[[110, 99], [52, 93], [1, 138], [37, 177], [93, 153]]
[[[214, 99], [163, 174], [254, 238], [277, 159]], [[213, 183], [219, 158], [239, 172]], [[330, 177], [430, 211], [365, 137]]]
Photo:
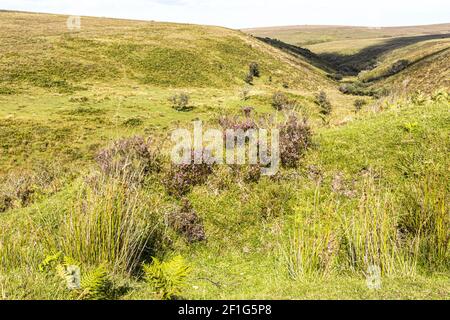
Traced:
[[[0, 171], [8, 164], [32, 162], [34, 148], [22, 152], [28, 148], [23, 141], [33, 147], [43, 143], [40, 148], [46, 149], [55, 144], [53, 135], [60, 136], [64, 143], [58, 143], [59, 156], [70, 154], [68, 159], [73, 159], [80, 156], [79, 148], [99, 143], [102, 134], [132, 131], [133, 126], [123, 125], [127, 121], [152, 130], [191, 119], [189, 113], [171, 108], [169, 98], [181, 91], [189, 91], [191, 100], [200, 99], [196, 116], [235, 108], [242, 104], [252, 61], [258, 61], [262, 75], [255, 79], [248, 103], [262, 109], [267, 106], [263, 102], [284, 87], [311, 108], [319, 88], [337, 100], [348, 100], [323, 71], [238, 31], [83, 18], [81, 30], [70, 32], [66, 16], [0, 15], [0, 114], [11, 117], [1, 134], [4, 145], [17, 151], [1, 156], [6, 165]], [[224, 103], [230, 99], [232, 103]], [[82, 130], [81, 121], [90, 128]], [[12, 134], [17, 128], [23, 135], [20, 141]], [[95, 137], [88, 138], [93, 130]], [[69, 139], [74, 135], [79, 137], [75, 145]]]

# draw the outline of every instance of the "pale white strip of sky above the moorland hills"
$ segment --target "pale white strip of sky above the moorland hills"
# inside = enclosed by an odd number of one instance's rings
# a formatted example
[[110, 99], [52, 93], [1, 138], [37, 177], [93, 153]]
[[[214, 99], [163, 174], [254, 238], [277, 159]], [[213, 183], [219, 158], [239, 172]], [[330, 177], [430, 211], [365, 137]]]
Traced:
[[0, 0], [0, 9], [221, 25], [404, 26], [450, 22], [449, 0]]

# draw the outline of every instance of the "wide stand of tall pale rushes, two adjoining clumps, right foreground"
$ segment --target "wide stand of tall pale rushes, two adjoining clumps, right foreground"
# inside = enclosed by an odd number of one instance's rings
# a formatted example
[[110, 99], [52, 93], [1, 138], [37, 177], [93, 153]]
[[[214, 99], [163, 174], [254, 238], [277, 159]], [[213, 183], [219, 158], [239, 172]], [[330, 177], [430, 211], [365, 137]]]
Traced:
[[342, 203], [338, 196], [319, 200], [316, 195], [312, 209], [297, 217], [282, 242], [281, 257], [291, 277], [364, 275], [372, 267], [389, 277], [418, 272], [419, 239], [401, 237], [402, 208], [386, 187], [368, 177], [357, 200]]

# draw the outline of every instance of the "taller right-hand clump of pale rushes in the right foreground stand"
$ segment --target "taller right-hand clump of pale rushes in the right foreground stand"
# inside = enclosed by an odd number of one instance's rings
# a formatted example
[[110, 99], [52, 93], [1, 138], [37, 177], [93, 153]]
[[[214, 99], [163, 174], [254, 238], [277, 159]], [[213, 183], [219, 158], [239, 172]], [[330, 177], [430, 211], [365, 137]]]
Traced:
[[367, 178], [357, 210], [344, 211], [341, 218], [341, 263], [353, 272], [376, 266], [387, 276], [415, 274], [414, 248], [399, 239], [400, 210], [393, 194]]

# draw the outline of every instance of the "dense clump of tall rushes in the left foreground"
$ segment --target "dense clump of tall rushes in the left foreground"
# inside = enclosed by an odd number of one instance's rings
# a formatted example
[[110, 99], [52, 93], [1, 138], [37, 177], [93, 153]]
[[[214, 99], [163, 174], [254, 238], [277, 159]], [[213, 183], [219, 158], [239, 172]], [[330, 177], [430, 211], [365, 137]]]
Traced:
[[108, 177], [81, 188], [60, 229], [58, 250], [83, 265], [107, 263], [133, 272], [144, 256], [157, 251], [164, 232], [155, 199]]

